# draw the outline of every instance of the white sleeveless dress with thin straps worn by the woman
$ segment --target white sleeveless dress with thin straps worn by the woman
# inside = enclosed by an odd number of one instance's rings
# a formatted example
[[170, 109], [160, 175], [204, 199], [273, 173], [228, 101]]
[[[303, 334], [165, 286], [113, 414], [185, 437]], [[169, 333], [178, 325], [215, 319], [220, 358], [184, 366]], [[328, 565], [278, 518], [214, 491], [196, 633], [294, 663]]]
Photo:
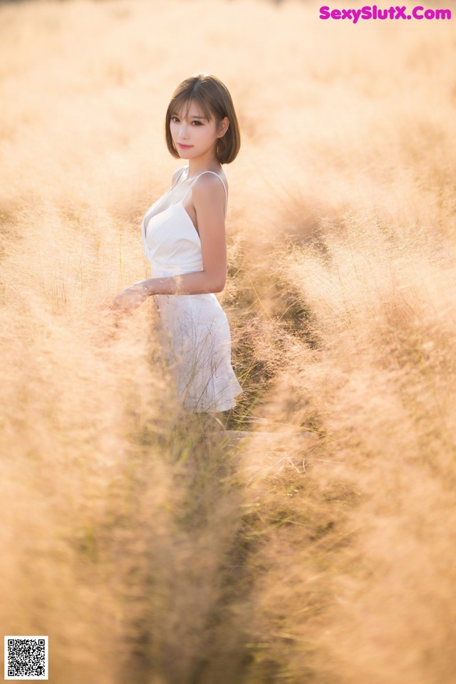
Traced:
[[[217, 173], [203, 173], [216, 175], [227, 195]], [[142, 243], [153, 278], [203, 270], [199, 235], [183, 206], [193, 183], [180, 202], [160, 211], [162, 200], [187, 175], [186, 166], [171, 189], [147, 209], [142, 219]], [[160, 344], [184, 408], [193, 413], [233, 408], [237, 404], [234, 398], [244, 390], [232, 368], [228, 319], [215, 294], [152, 296], [160, 314]]]

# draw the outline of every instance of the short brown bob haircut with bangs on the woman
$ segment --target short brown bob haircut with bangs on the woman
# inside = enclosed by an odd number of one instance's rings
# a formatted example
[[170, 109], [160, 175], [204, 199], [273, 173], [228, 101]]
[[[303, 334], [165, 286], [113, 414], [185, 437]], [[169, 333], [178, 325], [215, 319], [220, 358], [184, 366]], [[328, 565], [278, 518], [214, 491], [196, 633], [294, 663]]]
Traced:
[[171, 117], [179, 113], [185, 105], [187, 105], [186, 111], [188, 112], [192, 102], [198, 105], [209, 121], [214, 118], [217, 125], [225, 116], [228, 117], [228, 130], [222, 138], [217, 140], [216, 156], [220, 164], [229, 164], [236, 159], [239, 147], [241, 147], [239, 122], [227, 87], [219, 81], [217, 76], [211, 76], [209, 73], [197, 73], [195, 76], [186, 78], [180, 86], [177, 86], [172, 95], [165, 118], [165, 138], [170, 154], [180, 159], [170, 132]]

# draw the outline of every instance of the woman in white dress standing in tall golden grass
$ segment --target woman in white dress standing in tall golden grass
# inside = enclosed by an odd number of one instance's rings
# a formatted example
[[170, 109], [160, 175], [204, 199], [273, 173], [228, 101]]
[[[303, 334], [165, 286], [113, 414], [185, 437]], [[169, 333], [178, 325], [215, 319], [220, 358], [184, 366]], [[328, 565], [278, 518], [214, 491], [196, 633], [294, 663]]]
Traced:
[[204, 73], [183, 81], [167, 108], [165, 136], [171, 155], [188, 164], [142, 219], [152, 278], [120, 292], [111, 306], [129, 312], [154, 297], [182, 405], [194, 413], [217, 413], [233, 408], [243, 392], [231, 365], [227, 316], [214, 294], [227, 278], [222, 164], [232, 162], [240, 147], [226, 86]]

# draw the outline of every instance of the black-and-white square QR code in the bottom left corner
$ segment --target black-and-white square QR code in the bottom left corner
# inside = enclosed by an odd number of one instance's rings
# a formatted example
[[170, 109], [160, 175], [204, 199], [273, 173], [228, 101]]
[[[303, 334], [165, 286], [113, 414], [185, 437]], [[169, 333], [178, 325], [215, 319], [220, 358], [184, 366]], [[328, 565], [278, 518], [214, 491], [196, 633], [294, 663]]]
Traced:
[[48, 679], [48, 637], [6, 636], [5, 679]]

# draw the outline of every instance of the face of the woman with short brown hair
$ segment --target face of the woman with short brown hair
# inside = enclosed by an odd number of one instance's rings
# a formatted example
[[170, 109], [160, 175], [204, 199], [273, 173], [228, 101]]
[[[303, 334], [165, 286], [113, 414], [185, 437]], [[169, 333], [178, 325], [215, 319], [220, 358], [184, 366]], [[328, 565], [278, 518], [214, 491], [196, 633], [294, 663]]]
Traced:
[[184, 105], [179, 112], [172, 113], [170, 133], [177, 152], [182, 159], [195, 160], [215, 157], [217, 139], [227, 132], [229, 120], [227, 117], [217, 126], [217, 121], [208, 120], [197, 103], [190, 107]]

